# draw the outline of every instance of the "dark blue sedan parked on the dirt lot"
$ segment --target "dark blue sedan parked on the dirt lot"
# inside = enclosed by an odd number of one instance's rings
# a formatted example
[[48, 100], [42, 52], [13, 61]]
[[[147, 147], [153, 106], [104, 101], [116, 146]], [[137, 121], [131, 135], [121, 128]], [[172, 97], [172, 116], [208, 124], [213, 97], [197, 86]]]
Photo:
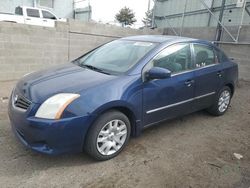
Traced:
[[237, 79], [237, 64], [207, 41], [127, 37], [24, 76], [11, 94], [9, 118], [35, 151], [84, 150], [107, 160], [158, 122], [202, 109], [223, 115]]

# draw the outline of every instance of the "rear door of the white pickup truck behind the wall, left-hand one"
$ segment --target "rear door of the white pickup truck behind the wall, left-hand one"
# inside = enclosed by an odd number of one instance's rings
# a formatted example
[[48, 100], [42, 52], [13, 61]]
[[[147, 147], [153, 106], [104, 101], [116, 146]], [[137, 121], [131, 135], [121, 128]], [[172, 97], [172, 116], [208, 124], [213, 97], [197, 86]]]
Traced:
[[25, 23], [30, 25], [43, 25], [39, 9], [27, 8]]

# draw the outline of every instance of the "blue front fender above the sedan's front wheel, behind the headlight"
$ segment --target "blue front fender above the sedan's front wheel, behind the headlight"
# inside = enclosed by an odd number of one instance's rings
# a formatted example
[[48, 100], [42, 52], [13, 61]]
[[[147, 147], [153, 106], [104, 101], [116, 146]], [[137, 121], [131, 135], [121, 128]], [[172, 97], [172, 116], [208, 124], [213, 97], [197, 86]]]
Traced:
[[124, 107], [141, 119], [142, 83], [138, 77], [126, 77], [89, 88], [65, 110], [64, 117], [98, 115], [108, 109]]

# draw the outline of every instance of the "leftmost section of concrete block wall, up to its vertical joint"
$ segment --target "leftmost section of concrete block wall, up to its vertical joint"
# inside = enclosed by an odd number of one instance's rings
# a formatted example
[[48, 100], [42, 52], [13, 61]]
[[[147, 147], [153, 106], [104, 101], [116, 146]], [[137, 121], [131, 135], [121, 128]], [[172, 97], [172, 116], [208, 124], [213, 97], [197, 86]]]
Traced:
[[55, 28], [0, 24], [0, 80], [24, 74], [68, 59], [68, 34]]

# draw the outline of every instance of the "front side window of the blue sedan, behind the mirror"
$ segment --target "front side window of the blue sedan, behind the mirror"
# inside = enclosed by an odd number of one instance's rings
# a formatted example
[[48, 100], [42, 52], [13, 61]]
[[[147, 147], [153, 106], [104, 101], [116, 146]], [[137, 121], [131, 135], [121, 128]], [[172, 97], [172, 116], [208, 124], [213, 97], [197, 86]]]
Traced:
[[179, 73], [192, 69], [189, 44], [175, 44], [160, 52], [151, 62], [153, 67], [161, 67]]

